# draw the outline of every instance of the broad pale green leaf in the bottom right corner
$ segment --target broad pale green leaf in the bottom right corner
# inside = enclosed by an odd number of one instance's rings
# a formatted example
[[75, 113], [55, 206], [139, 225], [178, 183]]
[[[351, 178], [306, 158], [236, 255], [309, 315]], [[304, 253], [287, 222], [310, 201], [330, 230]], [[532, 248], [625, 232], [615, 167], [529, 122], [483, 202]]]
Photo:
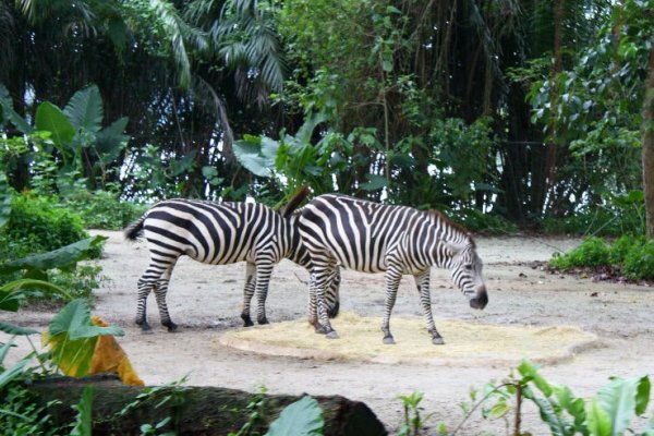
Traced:
[[[611, 435], [622, 434], [629, 427], [635, 415], [637, 395], [643, 378], [646, 377], [615, 377], [597, 391], [597, 402], [609, 417]], [[649, 379], [646, 384], [649, 385]], [[646, 393], [649, 395], [649, 389]], [[642, 405], [639, 409], [642, 409]]]

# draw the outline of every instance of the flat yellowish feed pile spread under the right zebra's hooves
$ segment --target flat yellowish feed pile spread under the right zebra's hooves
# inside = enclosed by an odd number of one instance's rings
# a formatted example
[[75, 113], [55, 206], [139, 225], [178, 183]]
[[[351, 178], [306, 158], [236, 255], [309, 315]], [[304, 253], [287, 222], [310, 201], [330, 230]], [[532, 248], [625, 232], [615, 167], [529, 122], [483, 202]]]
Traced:
[[270, 355], [473, 366], [516, 364], [523, 358], [554, 363], [570, 359], [597, 341], [594, 335], [572, 326], [499, 326], [436, 319], [445, 344], [434, 346], [423, 318], [393, 316], [390, 328], [397, 343], [385, 346], [380, 318], [342, 313], [331, 324], [340, 339], [315, 334], [302, 318], [228, 331], [219, 342]]

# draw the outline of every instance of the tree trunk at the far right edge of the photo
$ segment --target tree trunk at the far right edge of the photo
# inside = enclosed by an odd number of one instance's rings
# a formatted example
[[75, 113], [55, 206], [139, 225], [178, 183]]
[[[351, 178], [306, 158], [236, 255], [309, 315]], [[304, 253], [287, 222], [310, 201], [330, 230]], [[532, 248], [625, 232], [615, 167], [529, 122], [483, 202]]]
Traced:
[[647, 238], [654, 238], [654, 47], [650, 49], [650, 73], [643, 101], [643, 190]]

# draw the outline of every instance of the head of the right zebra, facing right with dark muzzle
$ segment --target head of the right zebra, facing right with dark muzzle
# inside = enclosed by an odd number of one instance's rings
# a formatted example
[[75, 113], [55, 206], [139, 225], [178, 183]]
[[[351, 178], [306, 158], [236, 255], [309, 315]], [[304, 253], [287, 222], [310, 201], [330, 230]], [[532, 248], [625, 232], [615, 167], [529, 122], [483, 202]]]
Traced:
[[472, 308], [482, 310], [488, 304], [486, 286], [482, 278], [482, 259], [476, 254], [474, 242], [465, 244], [447, 243], [451, 253], [450, 272], [452, 281], [470, 301]]

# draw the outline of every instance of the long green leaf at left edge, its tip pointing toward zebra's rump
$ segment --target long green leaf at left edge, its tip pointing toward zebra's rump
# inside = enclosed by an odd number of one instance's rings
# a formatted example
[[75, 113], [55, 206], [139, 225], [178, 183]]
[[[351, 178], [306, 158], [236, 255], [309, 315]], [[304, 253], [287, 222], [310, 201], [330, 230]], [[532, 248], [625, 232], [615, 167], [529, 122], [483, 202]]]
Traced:
[[88, 258], [92, 250], [106, 239], [106, 237], [96, 235], [48, 253], [35, 254], [8, 262], [0, 265], [0, 274], [13, 272], [21, 269], [70, 269], [73, 268], [77, 262]]

